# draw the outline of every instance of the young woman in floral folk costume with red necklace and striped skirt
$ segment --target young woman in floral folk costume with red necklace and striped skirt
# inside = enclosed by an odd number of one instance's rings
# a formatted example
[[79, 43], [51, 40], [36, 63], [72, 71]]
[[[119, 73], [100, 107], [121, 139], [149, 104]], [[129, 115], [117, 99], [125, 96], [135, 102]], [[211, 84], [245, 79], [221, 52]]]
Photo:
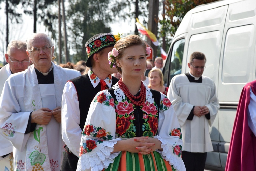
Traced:
[[171, 102], [141, 81], [149, 53], [138, 35], [121, 38], [109, 53], [122, 78], [91, 103], [77, 170], [185, 170]]

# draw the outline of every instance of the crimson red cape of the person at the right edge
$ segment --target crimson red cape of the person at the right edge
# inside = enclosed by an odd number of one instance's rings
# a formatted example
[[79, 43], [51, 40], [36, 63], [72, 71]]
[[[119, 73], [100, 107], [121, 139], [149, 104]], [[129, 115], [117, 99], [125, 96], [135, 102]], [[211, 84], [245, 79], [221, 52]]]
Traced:
[[225, 171], [256, 170], [256, 137], [248, 126], [250, 88], [256, 95], [256, 80], [247, 83], [241, 93], [234, 122]]

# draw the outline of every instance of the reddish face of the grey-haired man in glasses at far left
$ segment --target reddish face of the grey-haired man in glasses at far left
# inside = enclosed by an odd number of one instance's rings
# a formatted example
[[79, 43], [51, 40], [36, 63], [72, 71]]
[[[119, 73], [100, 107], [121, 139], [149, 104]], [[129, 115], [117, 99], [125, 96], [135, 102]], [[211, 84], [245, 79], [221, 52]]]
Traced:
[[11, 49], [10, 54], [5, 54], [5, 59], [9, 63], [12, 73], [24, 71], [29, 66], [29, 57], [24, 50]]

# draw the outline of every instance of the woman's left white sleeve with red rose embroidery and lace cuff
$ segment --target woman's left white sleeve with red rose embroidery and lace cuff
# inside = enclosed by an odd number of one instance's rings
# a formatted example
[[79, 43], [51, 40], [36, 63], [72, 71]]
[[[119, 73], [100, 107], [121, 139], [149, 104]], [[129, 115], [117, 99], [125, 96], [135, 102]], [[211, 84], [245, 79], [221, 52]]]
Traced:
[[120, 152], [112, 153], [115, 138], [114, 99], [107, 90], [99, 92], [91, 103], [82, 131], [77, 170], [108, 168]]

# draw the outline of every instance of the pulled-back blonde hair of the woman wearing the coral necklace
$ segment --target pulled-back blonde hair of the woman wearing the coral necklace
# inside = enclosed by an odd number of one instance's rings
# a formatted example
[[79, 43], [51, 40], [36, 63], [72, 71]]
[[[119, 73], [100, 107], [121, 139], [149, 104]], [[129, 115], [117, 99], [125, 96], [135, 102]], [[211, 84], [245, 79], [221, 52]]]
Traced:
[[[114, 48], [118, 50], [119, 54], [117, 55], [115, 60], [122, 58], [125, 49], [134, 45], [143, 46], [145, 49], [145, 55], [146, 55], [146, 47], [147, 47], [146, 43], [138, 35], [131, 34], [121, 38], [116, 42]], [[116, 65], [116, 69], [120, 74], [122, 74], [121, 68], [118, 67], [117, 65]]]

